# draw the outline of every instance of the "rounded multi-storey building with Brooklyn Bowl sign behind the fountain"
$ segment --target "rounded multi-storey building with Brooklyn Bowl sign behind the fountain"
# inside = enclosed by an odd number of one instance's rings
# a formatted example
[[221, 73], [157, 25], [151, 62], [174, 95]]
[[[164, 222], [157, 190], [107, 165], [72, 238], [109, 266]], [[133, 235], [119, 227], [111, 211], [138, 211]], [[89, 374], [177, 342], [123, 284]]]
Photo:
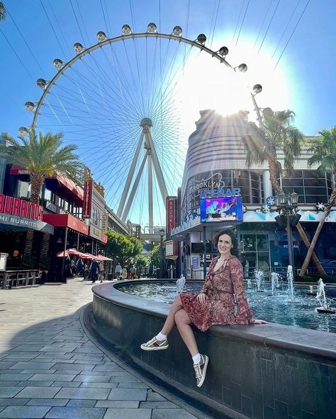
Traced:
[[[278, 215], [272, 197], [267, 163], [247, 168], [246, 153], [241, 138], [249, 131], [252, 122], [247, 113], [241, 112], [222, 117], [213, 110], [201, 111], [196, 131], [189, 137], [189, 149], [181, 185], [181, 222], [172, 230], [172, 239], [182, 241], [180, 263], [184, 272], [189, 268], [194, 277], [203, 276], [204, 246], [206, 264], [217, 253], [211, 245], [215, 231], [228, 226], [237, 229], [240, 251], [244, 260], [245, 276], [252, 276], [255, 269], [267, 272], [284, 272], [289, 264], [286, 230], [276, 223]], [[284, 193], [298, 193], [298, 214], [308, 239], [313, 238], [320, 220], [323, 204], [334, 188], [333, 176], [308, 168], [310, 154], [303, 147], [302, 154], [294, 163], [291, 176], [283, 174], [279, 183]], [[284, 156], [278, 154], [283, 163]], [[232, 216], [230, 205], [242, 202], [242, 214]], [[205, 203], [206, 202], [206, 203]], [[202, 205], [214, 202], [215, 214], [202, 214]], [[223, 207], [220, 207], [223, 202]], [[219, 205], [219, 207], [218, 207]], [[218, 209], [219, 208], [219, 209]], [[208, 211], [210, 212], [210, 211]], [[336, 226], [336, 210], [330, 212], [320, 234], [315, 253], [327, 273], [336, 272], [336, 238], [332, 234]], [[328, 246], [325, 246], [328, 243]], [[293, 228], [293, 256], [295, 268], [301, 267], [306, 256], [306, 246]], [[314, 265], [310, 264], [314, 271]]]

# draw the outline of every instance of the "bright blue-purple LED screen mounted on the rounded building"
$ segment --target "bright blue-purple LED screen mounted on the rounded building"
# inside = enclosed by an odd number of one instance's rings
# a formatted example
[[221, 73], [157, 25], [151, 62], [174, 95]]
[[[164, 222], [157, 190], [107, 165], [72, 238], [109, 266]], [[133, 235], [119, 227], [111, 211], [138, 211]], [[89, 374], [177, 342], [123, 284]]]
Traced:
[[201, 222], [242, 221], [242, 197], [201, 200]]

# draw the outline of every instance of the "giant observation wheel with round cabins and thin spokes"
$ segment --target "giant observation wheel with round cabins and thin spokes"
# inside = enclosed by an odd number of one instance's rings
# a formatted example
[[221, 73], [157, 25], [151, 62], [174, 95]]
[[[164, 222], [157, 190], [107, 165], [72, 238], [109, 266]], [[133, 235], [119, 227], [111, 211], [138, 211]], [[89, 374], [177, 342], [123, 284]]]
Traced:
[[[181, 115], [184, 98], [197, 94], [197, 86], [184, 91], [186, 63], [197, 71], [197, 60], [206, 54], [237, 72], [247, 65], [231, 66], [227, 47], [209, 49], [203, 34], [183, 38], [179, 26], [167, 34], [155, 23], [144, 33], [123, 25], [119, 36], [99, 31], [96, 38], [91, 46], [76, 42], [72, 59], [54, 59], [55, 76], [37, 80], [42, 96], [25, 103], [33, 112], [30, 127], [63, 132], [65, 144], [77, 145], [79, 159], [104, 186], [107, 205], [124, 222], [152, 232], [164, 225], [166, 197], [181, 185], [191, 133]], [[254, 86], [254, 93], [261, 90]]]

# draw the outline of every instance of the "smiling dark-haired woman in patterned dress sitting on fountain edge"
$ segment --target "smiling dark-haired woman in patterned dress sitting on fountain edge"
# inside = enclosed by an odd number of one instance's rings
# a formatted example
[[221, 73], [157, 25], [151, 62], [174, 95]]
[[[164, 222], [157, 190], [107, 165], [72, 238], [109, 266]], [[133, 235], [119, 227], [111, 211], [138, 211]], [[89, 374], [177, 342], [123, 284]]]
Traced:
[[[253, 318], [244, 292], [242, 264], [237, 258], [238, 243], [233, 231], [220, 231], [214, 243], [220, 256], [213, 258], [206, 280], [199, 294], [179, 294], [171, 306], [162, 331], [147, 343], [142, 350], [164, 350], [169, 344], [167, 335], [177, 325], [181, 338], [189, 349], [194, 362], [197, 386], [201, 387], [206, 378], [208, 356], [198, 352], [191, 323], [202, 332], [215, 324], [266, 324], [264, 320]], [[235, 314], [235, 304], [237, 313]]]

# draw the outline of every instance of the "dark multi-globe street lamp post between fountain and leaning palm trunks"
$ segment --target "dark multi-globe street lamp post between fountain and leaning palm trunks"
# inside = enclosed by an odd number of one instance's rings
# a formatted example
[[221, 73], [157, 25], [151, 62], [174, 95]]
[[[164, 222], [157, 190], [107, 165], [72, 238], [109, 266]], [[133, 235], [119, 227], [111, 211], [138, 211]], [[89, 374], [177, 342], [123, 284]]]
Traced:
[[279, 195], [276, 195], [275, 201], [279, 212], [279, 215], [276, 217], [276, 222], [281, 226], [284, 226], [284, 222], [286, 221], [289, 265], [294, 268], [293, 234], [291, 227], [296, 226], [301, 218], [300, 214], [296, 214], [296, 209], [298, 207], [298, 194], [294, 191], [289, 195], [282, 192], [279, 193]]

